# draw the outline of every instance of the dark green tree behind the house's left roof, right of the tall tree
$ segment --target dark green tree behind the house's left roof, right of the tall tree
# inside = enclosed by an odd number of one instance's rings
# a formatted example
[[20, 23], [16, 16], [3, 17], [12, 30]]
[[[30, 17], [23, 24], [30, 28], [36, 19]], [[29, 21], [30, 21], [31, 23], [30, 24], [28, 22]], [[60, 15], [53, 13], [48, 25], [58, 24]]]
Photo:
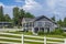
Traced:
[[20, 10], [20, 14], [19, 14], [19, 24], [21, 25], [22, 22], [22, 18], [34, 18], [33, 14], [31, 14], [30, 12], [25, 12], [23, 9]]

